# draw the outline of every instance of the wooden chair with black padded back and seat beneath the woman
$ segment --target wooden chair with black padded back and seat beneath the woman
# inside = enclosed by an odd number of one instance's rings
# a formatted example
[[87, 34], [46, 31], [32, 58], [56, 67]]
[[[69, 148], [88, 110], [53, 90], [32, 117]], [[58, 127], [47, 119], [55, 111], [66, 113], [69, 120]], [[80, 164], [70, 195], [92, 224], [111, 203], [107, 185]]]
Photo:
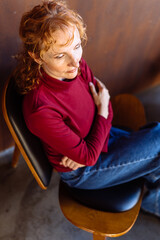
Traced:
[[[114, 124], [133, 127], [134, 130], [145, 124], [143, 106], [134, 96], [120, 95], [114, 98], [112, 103], [116, 117], [113, 120]], [[4, 87], [2, 110], [15, 141], [12, 166], [17, 165], [19, 152], [21, 152], [39, 186], [47, 189], [53, 168], [46, 158], [41, 142], [29, 132], [25, 125], [22, 115], [22, 96], [15, 90], [13, 77], [9, 78]], [[122, 118], [123, 121], [121, 121]], [[130, 195], [132, 195], [131, 198]], [[93, 199], [100, 197], [93, 203], [94, 207], [88, 200], [82, 201], [84, 196], [86, 198], [92, 196]], [[71, 189], [63, 182], [60, 182], [59, 187], [59, 203], [64, 216], [77, 227], [93, 233], [94, 240], [104, 240], [107, 236], [117, 237], [127, 233], [137, 219], [141, 200], [141, 181], [102, 190]], [[112, 206], [107, 206], [108, 202]]]

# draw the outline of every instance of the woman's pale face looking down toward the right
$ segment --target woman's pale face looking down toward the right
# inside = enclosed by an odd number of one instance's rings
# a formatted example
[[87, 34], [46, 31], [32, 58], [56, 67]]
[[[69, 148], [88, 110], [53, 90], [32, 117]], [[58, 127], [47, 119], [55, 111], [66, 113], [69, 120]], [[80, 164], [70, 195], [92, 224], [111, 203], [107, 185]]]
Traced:
[[[73, 41], [67, 41], [73, 34]], [[82, 57], [81, 39], [78, 29], [57, 30], [53, 33], [55, 43], [41, 57], [44, 71], [59, 80], [73, 79], [77, 76], [79, 62]]]

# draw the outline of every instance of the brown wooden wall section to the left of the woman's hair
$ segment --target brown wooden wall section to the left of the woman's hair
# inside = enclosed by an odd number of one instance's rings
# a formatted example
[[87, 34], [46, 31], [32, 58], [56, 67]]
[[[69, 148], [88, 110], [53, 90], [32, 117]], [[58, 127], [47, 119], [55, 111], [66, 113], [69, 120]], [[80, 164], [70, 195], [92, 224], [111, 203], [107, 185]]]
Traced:
[[[1, 0], [0, 1], [0, 99], [4, 82], [15, 66], [14, 56], [19, 48], [18, 26], [21, 15], [41, 1], [36, 0]], [[0, 101], [1, 103], [1, 101]], [[8, 128], [0, 108], [0, 151], [13, 145]]]

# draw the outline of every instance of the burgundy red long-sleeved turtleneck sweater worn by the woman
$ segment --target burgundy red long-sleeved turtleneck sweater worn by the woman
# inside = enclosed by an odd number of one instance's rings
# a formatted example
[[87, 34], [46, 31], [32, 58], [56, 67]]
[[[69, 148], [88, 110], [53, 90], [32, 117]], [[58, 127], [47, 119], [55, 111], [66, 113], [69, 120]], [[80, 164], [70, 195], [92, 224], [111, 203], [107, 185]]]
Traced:
[[107, 119], [96, 113], [89, 82], [94, 76], [82, 59], [81, 75], [60, 81], [42, 71], [38, 87], [23, 100], [23, 114], [29, 130], [38, 136], [47, 157], [57, 171], [71, 171], [60, 165], [62, 156], [94, 165], [100, 153], [107, 152], [113, 118], [109, 104]]

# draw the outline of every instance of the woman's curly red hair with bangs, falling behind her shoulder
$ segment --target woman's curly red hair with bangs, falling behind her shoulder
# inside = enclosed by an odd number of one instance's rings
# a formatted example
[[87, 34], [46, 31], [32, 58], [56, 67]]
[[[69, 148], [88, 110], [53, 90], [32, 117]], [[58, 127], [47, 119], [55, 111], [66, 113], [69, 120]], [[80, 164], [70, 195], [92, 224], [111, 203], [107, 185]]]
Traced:
[[87, 36], [84, 22], [64, 1], [44, 1], [24, 13], [19, 28], [23, 50], [18, 55], [19, 64], [15, 70], [16, 84], [21, 94], [26, 94], [39, 84], [39, 65], [29, 52], [34, 53], [37, 58], [41, 57], [53, 44], [52, 33], [58, 29], [66, 30], [70, 26], [77, 27], [82, 43], [85, 43]]

